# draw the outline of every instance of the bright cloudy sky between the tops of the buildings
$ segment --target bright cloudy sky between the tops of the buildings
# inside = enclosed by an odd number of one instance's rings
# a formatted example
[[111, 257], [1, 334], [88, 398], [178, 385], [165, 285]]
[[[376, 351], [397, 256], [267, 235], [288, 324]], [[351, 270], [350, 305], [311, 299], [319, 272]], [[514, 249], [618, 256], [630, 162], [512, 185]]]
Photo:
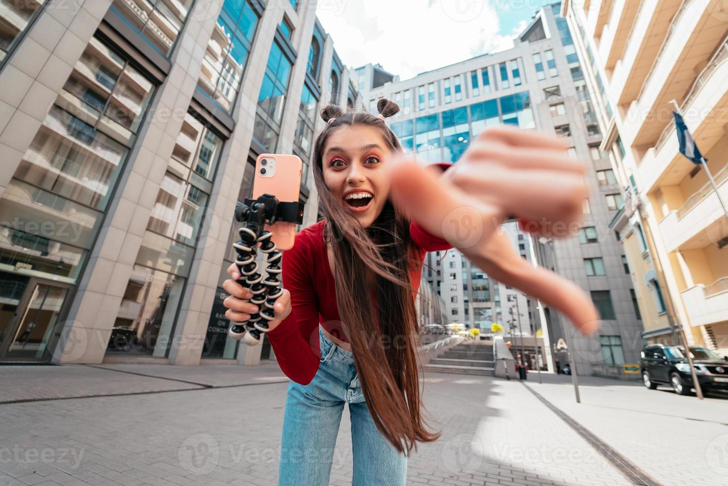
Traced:
[[380, 63], [410, 79], [513, 47], [555, 0], [319, 0], [316, 15], [349, 68]]

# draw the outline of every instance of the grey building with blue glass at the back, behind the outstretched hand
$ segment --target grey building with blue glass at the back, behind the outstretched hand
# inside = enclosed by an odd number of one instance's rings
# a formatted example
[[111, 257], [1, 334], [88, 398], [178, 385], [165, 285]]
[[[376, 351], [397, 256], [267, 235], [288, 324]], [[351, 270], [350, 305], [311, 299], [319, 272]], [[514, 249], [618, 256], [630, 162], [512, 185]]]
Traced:
[[[592, 100], [599, 92], [587, 85], [569, 25], [559, 15], [560, 7], [557, 3], [537, 12], [515, 39], [513, 49], [473, 57], [412, 79], [394, 77], [381, 87], [361, 92], [365, 106], [376, 106], [379, 97], [400, 105], [392, 130], [405, 151], [416, 154], [423, 163], [456, 162], [473, 137], [498, 124], [564, 138], [571, 146], [571, 156], [589, 162], [585, 181], [590, 199], [585, 202], [585, 223], [579, 236], [542, 243], [523, 235], [514, 244], [524, 258], [533, 255], [547, 268], [558, 267], [598, 307], [604, 335], [597, 338], [582, 338], [562, 316], [530, 299], [521, 308], [523, 318], [533, 319], [533, 325], [525, 326], [529, 332], [538, 331], [542, 322], [538, 316], [542, 316], [546, 322], [543, 333], [552, 346], [565, 340], [564, 332], [570, 332], [580, 373], [591, 374], [595, 365], [621, 367], [637, 362], [642, 323], [633, 305], [622, 245], [608, 228], [622, 204], [622, 194], [609, 154], [600, 148], [606, 126], [600, 124]], [[364, 79], [372, 82], [368, 76], [371, 65], [353, 71], [367, 74]], [[503, 324], [511, 319], [504, 314], [500, 284], [490, 282], [456, 252], [438, 267], [440, 258], [430, 255], [428, 262], [440, 271], [440, 279], [434, 274], [432, 282], [436, 290], [439, 285], [451, 322], [489, 328], [491, 322]], [[475, 287], [477, 295], [472, 292]], [[523, 330], [524, 335], [526, 332]], [[562, 365], [569, 362], [563, 348], [553, 356]]]

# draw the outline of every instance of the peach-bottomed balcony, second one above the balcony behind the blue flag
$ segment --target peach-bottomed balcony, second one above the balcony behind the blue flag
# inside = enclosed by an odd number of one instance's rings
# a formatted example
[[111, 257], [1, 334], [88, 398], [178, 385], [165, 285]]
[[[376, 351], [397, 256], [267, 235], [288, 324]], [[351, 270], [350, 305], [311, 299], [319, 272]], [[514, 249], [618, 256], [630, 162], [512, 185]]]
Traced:
[[617, 105], [636, 100], [681, 4], [682, 0], [642, 0], [626, 36], [622, 58], [612, 73], [612, 96]]

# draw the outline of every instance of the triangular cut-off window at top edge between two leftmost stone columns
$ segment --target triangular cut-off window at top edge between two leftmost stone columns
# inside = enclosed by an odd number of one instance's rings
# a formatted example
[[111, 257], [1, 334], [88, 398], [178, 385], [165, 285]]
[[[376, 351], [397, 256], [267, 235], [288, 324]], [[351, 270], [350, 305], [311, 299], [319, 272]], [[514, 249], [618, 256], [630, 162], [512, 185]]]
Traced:
[[[171, 2], [163, 0], [114, 0], [112, 6], [118, 15], [124, 17], [127, 25], [137, 31], [154, 50], [167, 57], [172, 51], [179, 31], [182, 30], [192, 1], [181, 0], [171, 7]], [[28, 6], [36, 4], [33, 1], [28, 3]], [[234, 5], [236, 10], [234, 13], [240, 14], [243, 9], [242, 2], [235, 2]], [[25, 7], [29, 8], [31, 7]]]

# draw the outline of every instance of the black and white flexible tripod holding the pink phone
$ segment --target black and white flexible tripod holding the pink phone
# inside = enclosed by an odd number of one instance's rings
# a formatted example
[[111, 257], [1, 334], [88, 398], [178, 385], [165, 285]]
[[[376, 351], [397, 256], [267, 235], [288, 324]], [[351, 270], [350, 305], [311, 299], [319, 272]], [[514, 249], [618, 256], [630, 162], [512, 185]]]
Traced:
[[[244, 223], [238, 233], [240, 240], [232, 246], [237, 252], [235, 264], [240, 269], [240, 278], [237, 283], [250, 289], [253, 297], [250, 303], [262, 308], [245, 322], [231, 322], [228, 334], [233, 339], [242, 338], [248, 346], [256, 346], [261, 342], [261, 334], [269, 331], [268, 323], [275, 319], [273, 306], [283, 289], [281, 287], [281, 260], [283, 252], [277, 250], [272, 241], [272, 232], [265, 229], [266, 224], [277, 221], [287, 223], [302, 223], [304, 215], [303, 203], [279, 202], [272, 194], [263, 194], [258, 199], [245, 199], [245, 203], [237, 203], [235, 207], [235, 220]], [[261, 252], [266, 255], [266, 272], [264, 279], [258, 272], [256, 247], [261, 245]]]

